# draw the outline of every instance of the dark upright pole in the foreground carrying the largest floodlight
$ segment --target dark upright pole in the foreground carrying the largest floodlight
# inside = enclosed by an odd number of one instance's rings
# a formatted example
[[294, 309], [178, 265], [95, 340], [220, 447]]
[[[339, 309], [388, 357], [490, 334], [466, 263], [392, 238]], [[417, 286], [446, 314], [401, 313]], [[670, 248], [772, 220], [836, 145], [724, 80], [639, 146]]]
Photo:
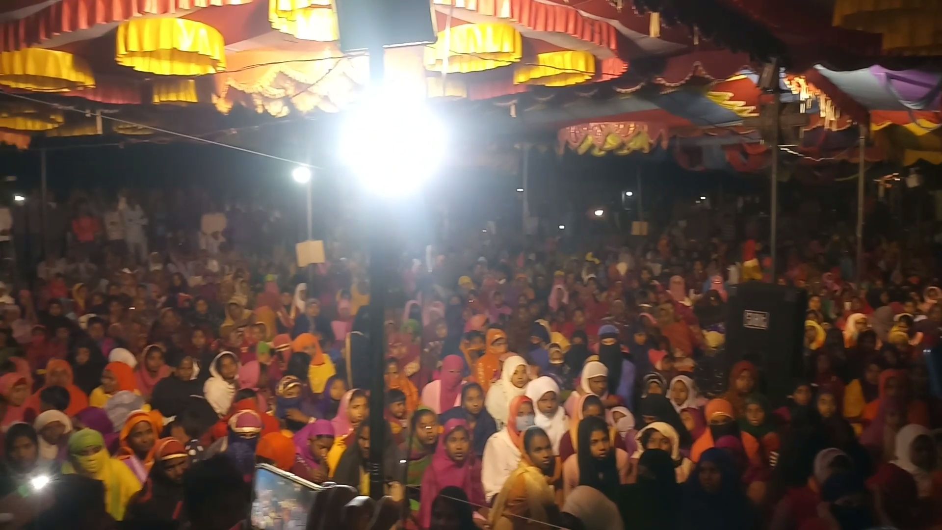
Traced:
[[[371, 90], [378, 91], [383, 76], [382, 46], [369, 48], [369, 81]], [[384, 491], [382, 470], [382, 450], [385, 444], [385, 432], [389, 428], [385, 419], [385, 386], [382, 381], [382, 357], [386, 341], [383, 338], [385, 326], [385, 299], [389, 290], [387, 283], [388, 264], [391, 249], [385, 237], [383, 224], [386, 207], [382, 197], [375, 197], [371, 210], [372, 226], [369, 230], [369, 362], [366, 368], [369, 379], [369, 496], [381, 499]]]

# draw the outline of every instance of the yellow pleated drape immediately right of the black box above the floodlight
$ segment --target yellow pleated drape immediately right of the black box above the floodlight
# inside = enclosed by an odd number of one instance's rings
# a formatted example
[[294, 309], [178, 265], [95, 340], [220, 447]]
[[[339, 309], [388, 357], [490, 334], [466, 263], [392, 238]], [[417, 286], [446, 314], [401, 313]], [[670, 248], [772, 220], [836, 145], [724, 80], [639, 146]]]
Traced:
[[426, 48], [425, 68], [442, 72], [446, 55], [448, 74], [491, 70], [519, 62], [523, 57], [523, 39], [512, 25], [456, 25], [438, 32], [438, 41]]

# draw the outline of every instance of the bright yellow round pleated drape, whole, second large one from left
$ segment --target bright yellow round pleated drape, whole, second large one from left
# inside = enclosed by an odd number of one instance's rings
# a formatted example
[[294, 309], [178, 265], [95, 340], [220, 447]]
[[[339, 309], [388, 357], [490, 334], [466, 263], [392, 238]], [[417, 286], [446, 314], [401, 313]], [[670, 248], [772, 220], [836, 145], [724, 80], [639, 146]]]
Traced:
[[225, 41], [187, 19], [133, 19], [118, 26], [115, 60], [157, 75], [216, 74], [226, 69]]

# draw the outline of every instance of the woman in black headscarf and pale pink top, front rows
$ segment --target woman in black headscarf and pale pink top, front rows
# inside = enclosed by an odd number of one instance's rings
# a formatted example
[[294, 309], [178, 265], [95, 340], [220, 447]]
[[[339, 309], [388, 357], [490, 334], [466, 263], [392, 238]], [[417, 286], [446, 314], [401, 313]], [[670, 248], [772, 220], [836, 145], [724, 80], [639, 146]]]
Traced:
[[628, 483], [631, 463], [624, 449], [611, 443], [609, 425], [602, 418], [590, 416], [578, 426], [578, 448], [562, 464], [563, 495], [577, 486], [592, 486], [609, 499], [620, 484]]

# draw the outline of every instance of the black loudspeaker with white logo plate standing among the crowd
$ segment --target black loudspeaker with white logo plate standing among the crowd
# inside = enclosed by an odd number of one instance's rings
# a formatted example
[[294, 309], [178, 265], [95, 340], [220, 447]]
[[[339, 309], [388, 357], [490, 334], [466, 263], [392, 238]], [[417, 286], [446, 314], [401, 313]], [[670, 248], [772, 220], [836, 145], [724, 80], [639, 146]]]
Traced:
[[792, 384], [803, 375], [807, 293], [752, 281], [730, 288], [727, 302], [726, 352], [755, 363], [761, 374], [757, 388], [772, 406], [786, 405]]

